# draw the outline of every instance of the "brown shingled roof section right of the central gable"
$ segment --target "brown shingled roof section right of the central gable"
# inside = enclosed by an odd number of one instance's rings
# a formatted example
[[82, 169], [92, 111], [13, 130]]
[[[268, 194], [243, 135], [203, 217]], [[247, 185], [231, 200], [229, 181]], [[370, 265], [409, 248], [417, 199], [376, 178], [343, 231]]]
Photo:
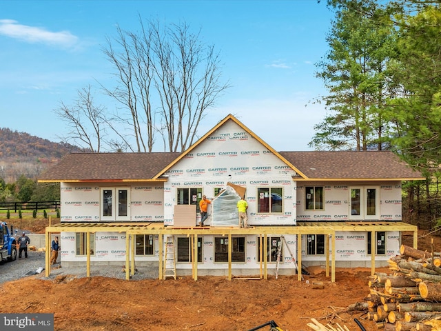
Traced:
[[391, 151], [280, 152], [301, 169], [298, 180], [424, 180]]

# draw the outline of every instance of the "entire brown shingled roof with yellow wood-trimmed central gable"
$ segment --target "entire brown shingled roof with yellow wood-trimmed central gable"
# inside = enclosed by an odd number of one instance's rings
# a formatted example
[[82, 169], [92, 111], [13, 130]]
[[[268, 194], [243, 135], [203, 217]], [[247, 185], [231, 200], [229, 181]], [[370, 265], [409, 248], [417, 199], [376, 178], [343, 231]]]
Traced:
[[185, 152], [73, 153], [39, 177], [39, 182], [166, 181], [161, 176], [227, 121], [259, 141], [298, 174], [296, 181], [424, 180], [390, 151], [276, 152], [229, 114]]

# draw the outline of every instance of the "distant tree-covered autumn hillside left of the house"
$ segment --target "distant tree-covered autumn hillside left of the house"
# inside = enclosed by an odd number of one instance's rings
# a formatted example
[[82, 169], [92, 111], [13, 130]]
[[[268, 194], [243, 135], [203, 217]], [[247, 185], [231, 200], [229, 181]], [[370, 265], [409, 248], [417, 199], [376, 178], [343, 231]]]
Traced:
[[14, 183], [21, 174], [37, 178], [43, 170], [71, 152], [83, 150], [68, 143], [54, 143], [25, 132], [0, 128], [0, 177], [6, 183]]

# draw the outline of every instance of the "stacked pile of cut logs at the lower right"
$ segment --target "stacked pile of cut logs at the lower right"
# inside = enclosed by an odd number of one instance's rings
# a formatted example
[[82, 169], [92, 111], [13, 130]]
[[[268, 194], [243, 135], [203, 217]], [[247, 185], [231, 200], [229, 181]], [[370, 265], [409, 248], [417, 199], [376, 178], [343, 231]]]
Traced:
[[384, 331], [441, 330], [441, 253], [401, 245], [369, 281], [367, 319]]

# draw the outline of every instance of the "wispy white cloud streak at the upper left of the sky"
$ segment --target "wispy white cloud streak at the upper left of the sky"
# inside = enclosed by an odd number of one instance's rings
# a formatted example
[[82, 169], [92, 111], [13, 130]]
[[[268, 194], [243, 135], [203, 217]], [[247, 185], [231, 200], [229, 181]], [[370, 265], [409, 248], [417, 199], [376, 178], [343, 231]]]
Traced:
[[44, 28], [23, 26], [12, 19], [0, 19], [0, 34], [29, 43], [46, 43], [62, 47], [72, 47], [78, 42], [78, 37], [68, 31], [51, 32]]

